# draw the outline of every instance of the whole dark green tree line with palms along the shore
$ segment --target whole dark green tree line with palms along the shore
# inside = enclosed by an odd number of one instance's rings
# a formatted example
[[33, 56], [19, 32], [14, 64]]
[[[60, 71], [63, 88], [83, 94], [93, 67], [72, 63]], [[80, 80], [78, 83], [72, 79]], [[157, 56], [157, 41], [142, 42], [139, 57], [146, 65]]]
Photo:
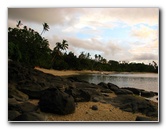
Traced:
[[92, 59], [90, 53], [81, 52], [76, 56], [74, 52], [66, 52], [68, 42], [56, 42], [53, 50], [49, 47], [49, 41], [42, 37], [45, 31], [49, 31], [49, 25], [43, 23], [43, 30], [39, 32], [24, 26], [21, 21], [15, 28], [8, 28], [8, 58], [20, 62], [29, 67], [43, 67], [56, 70], [99, 70], [118, 72], [158, 72], [156, 62], [148, 65], [144, 63], [128, 63], [115, 60], [107, 61], [100, 54], [95, 54]]

